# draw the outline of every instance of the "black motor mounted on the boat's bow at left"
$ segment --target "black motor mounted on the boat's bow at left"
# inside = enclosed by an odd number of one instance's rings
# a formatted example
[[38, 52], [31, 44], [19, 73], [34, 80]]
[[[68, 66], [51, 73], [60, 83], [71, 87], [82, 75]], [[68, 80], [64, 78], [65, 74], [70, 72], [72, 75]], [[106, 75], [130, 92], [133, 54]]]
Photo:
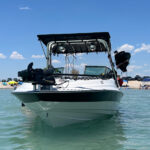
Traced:
[[18, 76], [22, 77], [23, 82], [32, 82], [33, 84], [54, 85], [53, 77], [54, 68], [49, 69], [33, 69], [33, 63], [30, 63], [26, 70], [18, 72]]

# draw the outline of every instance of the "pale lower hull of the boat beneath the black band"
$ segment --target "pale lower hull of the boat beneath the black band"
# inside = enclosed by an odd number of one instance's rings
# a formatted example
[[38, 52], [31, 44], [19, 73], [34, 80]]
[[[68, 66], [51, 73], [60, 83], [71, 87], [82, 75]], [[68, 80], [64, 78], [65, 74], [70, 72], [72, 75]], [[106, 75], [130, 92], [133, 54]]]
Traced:
[[80, 123], [106, 115], [113, 115], [118, 110], [118, 102], [35, 102], [26, 103], [28, 108], [53, 127]]

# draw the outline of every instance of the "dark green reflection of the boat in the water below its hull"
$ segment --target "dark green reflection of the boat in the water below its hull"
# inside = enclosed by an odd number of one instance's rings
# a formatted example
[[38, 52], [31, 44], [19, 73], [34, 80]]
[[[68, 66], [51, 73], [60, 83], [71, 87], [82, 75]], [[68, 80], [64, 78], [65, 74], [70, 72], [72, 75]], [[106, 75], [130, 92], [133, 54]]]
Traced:
[[28, 127], [24, 132], [26, 148], [31, 150], [123, 149], [126, 138], [119, 115], [61, 128], [52, 128], [39, 117], [29, 117]]

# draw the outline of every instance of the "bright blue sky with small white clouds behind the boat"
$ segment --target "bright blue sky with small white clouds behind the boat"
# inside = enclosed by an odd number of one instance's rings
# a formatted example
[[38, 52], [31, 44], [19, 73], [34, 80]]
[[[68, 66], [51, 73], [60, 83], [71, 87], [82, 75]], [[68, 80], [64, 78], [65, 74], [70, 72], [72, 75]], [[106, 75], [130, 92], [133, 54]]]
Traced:
[[[0, 0], [0, 79], [30, 62], [46, 66], [38, 34], [82, 32], [109, 32], [112, 52], [132, 55], [126, 75], [150, 76], [149, 7], [149, 0]], [[103, 56], [77, 55], [75, 67], [108, 65]], [[64, 56], [53, 57], [55, 67], [64, 64]]]

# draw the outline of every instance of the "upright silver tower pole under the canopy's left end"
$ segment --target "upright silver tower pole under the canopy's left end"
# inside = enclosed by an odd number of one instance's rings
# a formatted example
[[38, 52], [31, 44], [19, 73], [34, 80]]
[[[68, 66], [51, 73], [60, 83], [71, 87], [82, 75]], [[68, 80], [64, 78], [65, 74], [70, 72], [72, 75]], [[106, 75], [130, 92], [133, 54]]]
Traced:
[[52, 45], [54, 42], [49, 42], [47, 44], [47, 68], [52, 66]]

